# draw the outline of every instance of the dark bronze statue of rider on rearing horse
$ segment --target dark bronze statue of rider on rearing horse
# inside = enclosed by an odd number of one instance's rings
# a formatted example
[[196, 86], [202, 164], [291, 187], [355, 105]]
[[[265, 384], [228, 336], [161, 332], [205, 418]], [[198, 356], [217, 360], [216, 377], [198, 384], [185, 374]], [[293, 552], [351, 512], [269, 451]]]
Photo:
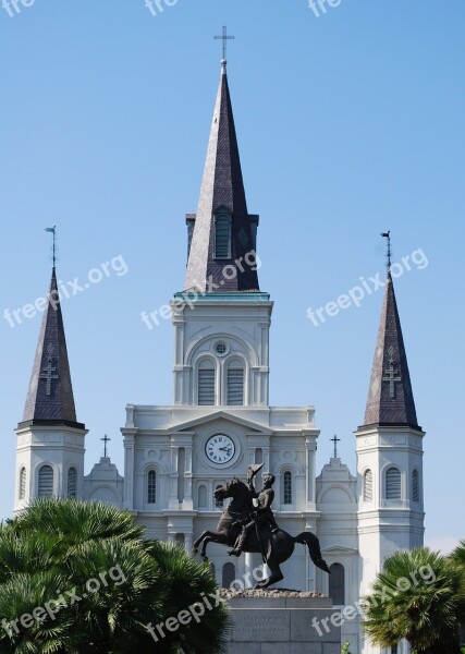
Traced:
[[[212, 542], [232, 547], [230, 555], [240, 556], [243, 552], [260, 553], [264, 562], [271, 571], [268, 579], [264, 579], [255, 585], [255, 588], [261, 589], [283, 579], [280, 564], [292, 556], [295, 543], [307, 545], [314, 564], [329, 573], [329, 568], [321, 558], [320, 545], [315, 534], [302, 532], [294, 537], [277, 525], [271, 511], [274, 498], [272, 489], [274, 476], [272, 474], [265, 476], [264, 488], [260, 493], [256, 493], [253, 480], [261, 467], [262, 464], [249, 465], [247, 485], [234, 477], [225, 486], [215, 491], [217, 500], [227, 497], [231, 497], [232, 500], [221, 513], [217, 531], [205, 531], [194, 543], [193, 552], [197, 554], [201, 544], [200, 556], [207, 561], [207, 545]], [[255, 498], [258, 500], [257, 507], [254, 506], [253, 499]]]

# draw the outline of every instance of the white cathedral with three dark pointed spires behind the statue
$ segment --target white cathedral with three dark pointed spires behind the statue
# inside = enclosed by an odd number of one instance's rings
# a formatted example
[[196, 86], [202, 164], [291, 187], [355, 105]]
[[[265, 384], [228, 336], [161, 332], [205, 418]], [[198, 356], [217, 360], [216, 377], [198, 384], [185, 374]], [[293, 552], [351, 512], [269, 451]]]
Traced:
[[[285, 588], [319, 591], [339, 608], [356, 606], [386, 557], [423, 545], [424, 537], [425, 434], [392, 278], [388, 270], [365, 419], [355, 432], [357, 469], [348, 470], [334, 441], [334, 456], [319, 471], [315, 408], [269, 404], [273, 302], [259, 288], [258, 222], [247, 208], [223, 60], [198, 207], [186, 216], [185, 284], [171, 302], [172, 404], [126, 405], [124, 474], [107, 450], [85, 474], [87, 429], [74, 405], [61, 306], [52, 301], [53, 266], [16, 429], [14, 512], [36, 497], [102, 500], [131, 511], [147, 537], [191, 550], [205, 530], [216, 530], [227, 506], [215, 500], [216, 488], [264, 463], [264, 475], [276, 477], [279, 525], [292, 535], [315, 533], [331, 570], [315, 568], [297, 545], [282, 566]], [[223, 586], [261, 564], [259, 555], [230, 557], [211, 543], [208, 556]], [[389, 651], [371, 645], [362, 619], [358, 613], [342, 625], [353, 654], [407, 654], [405, 643]]]

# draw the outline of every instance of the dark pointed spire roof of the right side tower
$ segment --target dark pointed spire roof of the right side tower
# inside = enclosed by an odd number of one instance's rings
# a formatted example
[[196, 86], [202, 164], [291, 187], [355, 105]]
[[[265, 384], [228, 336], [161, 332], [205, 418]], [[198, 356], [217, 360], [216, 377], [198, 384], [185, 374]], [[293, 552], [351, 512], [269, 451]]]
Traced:
[[364, 426], [408, 425], [419, 429], [391, 272], [371, 370]]

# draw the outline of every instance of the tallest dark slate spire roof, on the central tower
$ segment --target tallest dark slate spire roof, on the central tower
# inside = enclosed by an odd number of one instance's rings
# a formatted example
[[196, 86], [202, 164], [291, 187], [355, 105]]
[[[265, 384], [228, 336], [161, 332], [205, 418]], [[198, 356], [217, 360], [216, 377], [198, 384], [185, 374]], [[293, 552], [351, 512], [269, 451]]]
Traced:
[[[231, 216], [231, 258], [229, 259], [215, 258], [217, 214]], [[194, 217], [192, 216], [191, 219]], [[200, 197], [195, 215], [185, 290], [196, 288], [200, 292], [258, 291], [257, 271], [253, 270], [255, 266], [241, 264], [247, 253], [255, 251], [257, 222], [258, 216], [249, 216], [247, 211], [227, 64], [223, 60]], [[250, 257], [247, 257], [246, 262], [249, 259]], [[223, 274], [225, 266], [228, 266], [227, 275]], [[231, 266], [235, 268], [235, 274]], [[211, 282], [218, 284], [218, 288]]]

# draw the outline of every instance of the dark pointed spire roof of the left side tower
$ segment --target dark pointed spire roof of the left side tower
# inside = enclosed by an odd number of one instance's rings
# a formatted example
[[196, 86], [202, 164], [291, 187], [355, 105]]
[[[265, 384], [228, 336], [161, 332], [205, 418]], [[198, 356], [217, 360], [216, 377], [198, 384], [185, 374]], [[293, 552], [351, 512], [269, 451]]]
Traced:
[[54, 266], [47, 300], [23, 422], [20, 425], [65, 424], [84, 428], [84, 425], [76, 420]]

